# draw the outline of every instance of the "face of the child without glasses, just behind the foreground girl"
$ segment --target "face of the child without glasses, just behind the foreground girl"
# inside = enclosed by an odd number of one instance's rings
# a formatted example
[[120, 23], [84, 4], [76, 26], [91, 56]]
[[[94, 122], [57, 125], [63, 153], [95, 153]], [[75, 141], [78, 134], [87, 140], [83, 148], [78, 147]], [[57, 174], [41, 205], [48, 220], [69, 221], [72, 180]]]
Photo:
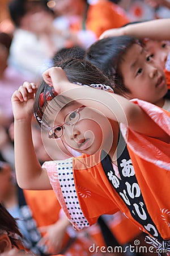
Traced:
[[129, 98], [139, 98], [162, 107], [167, 93], [165, 75], [145, 49], [138, 44], [131, 46], [120, 64], [120, 71], [131, 92]]

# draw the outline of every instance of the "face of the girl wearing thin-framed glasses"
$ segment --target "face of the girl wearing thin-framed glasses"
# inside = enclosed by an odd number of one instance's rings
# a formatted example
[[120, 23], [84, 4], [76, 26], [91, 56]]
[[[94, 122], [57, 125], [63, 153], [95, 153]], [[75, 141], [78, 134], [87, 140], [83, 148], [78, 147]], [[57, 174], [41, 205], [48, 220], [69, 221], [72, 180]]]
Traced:
[[[69, 120], [70, 122], [76, 118], [77, 110], [79, 110], [78, 121], [74, 125], [63, 125], [66, 117], [67, 121]], [[112, 127], [110, 122], [104, 115], [91, 108], [82, 106], [76, 102], [73, 105], [63, 108], [58, 113], [56, 121], [53, 124], [51, 123], [50, 126], [62, 125], [63, 134], [61, 139], [63, 143], [78, 152], [92, 155], [101, 148], [105, 148], [105, 144], [107, 144], [105, 150], [108, 151], [112, 146]], [[111, 134], [111, 138], [108, 139], [109, 134]]]

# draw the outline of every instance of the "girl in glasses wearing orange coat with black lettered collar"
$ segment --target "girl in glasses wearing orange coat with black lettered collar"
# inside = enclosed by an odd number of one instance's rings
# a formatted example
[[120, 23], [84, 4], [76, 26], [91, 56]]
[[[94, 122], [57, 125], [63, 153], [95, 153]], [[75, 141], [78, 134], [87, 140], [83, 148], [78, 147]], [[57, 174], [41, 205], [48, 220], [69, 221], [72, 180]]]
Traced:
[[[78, 230], [120, 209], [152, 236], [149, 242], [168, 251], [169, 113], [114, 94], [109, 79], [89, 61], [68, 60], [63, 69], [71, 82], [86, 86], [72, 84], [61, 68], [53, 67], [37, 92], [35, 84], [25, 82], [12, 96], [19, 185], [53, 188]], [[34, 93], [35, 115], [46, 134], [61, 138], [81, 156], [40, 166], [31, 135]]]

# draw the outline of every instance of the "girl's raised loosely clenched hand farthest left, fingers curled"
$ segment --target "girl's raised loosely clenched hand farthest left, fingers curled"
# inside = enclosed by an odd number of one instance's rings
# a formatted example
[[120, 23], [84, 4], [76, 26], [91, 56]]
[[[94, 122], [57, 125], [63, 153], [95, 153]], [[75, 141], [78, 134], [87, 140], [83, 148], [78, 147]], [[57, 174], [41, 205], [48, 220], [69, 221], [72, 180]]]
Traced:
[[33, 82], [24, 82], [24, 84], [12, 94], [11, 102], [15, 119], [32, 118], [35, 93], [36, 85]]

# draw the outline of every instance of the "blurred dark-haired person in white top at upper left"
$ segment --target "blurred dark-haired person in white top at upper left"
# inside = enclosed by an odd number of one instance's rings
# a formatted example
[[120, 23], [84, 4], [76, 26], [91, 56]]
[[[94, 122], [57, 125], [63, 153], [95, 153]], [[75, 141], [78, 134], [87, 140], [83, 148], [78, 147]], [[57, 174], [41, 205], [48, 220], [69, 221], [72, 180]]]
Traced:
[[55, 15], [47, 7], [47, 2], [12, 0], [8, 3], [10, 17], [15, 25], [10, 62], [33, 80], [39, 79], [41, 71], [44, 71], [43, 64], [48, 65], [54, 52], [67, 44], [77, 43], [76, 35], [54, 26]]

